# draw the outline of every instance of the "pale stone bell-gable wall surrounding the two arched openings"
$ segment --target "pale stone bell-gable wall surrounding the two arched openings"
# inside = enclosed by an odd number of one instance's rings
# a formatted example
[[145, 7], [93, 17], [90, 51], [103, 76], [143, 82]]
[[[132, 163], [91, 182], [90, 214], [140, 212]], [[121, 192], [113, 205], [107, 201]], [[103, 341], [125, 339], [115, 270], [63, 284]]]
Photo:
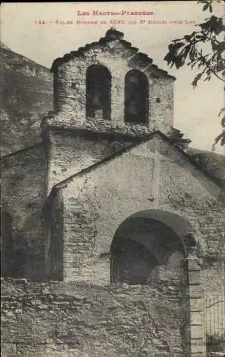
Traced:
[[[105, 66], [112, 76], [110, 120], [85, 116], [86, 71], [93, 64]], [[149, 81], [147, 125], [125, 124], [125, 75], [132, 69], [143, 71]], [[118, 132], [135, 135], [157, 129], [167, 134], [173, 126], [174, 77], [157, 69], [152, 59], [126, 41], [111, 38], [86, 46], [79, 53], [73, 52], [57, 59], [52, 71], [56, 114], [45, 120], [47, 125], [80, 129], [94, 125], [95, 131], [116, 128]]]

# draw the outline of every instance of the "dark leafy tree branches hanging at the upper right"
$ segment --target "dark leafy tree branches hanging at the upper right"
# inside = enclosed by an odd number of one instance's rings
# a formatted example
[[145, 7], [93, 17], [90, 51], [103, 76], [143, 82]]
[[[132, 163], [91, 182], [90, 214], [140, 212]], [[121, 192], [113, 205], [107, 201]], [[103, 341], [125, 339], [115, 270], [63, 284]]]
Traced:
[[[213, 12], [212, 4], [214, 0], [198, 1], [198, 4], [204, 4], [203, 11]], [[221, 2], [221, 1], [217, 1]], [[223, 16], [217, 17], [213, 14], [205, 22], [198, 24], [198, 31], [185, 35], [182, 39], [175, 39], [169, 44], [169, 51], [164, 57], [168, 66], [176, 66], [177, 69], [187, 64], [192, 69], [197, 68], [198, 74], [192, 81], [195, 88], [202, 79], [210, 81], [216, 77], [220, 81], [225, 81], [225, 26]], [[219, 115], [223, 114], [221, 125], [223, 131], [215, 139], [215, 144], [225, 144], [225, 108], [221, 109]]]

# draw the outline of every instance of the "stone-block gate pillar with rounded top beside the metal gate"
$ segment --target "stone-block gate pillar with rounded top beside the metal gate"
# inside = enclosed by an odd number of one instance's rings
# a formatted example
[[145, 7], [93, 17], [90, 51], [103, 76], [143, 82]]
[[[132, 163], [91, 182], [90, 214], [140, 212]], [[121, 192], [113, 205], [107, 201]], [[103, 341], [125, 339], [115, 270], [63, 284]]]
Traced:
[[188, 357], [205, 357], [204, 300], [202, 296], [201, 266], [196, 255], [184, 259], [187, 276], [185, 345]]

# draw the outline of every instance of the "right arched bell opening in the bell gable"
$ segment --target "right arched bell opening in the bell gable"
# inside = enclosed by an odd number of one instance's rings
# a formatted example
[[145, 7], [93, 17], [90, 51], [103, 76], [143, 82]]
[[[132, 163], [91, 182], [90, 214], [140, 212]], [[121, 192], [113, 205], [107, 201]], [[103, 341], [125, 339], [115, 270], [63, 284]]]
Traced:
[[141, 71], [132, 70], [125, 76], [125, 122], [147, 124], [148, 94], [147, 76]]

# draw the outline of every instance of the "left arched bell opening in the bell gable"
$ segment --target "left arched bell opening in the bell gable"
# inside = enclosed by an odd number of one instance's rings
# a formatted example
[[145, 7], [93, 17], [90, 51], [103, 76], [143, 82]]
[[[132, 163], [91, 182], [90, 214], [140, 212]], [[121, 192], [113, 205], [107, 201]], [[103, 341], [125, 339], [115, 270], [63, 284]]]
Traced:
[[110, 119], [111, 75], [107, 68], [93, 65], [86, 74], [86, 117]]

